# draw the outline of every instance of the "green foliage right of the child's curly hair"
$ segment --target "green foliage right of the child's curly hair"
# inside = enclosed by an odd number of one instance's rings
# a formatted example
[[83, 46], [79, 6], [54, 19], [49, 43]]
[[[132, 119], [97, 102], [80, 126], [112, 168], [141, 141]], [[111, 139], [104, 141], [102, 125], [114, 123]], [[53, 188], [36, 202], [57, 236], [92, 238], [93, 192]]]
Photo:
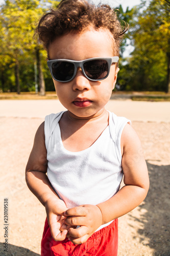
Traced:
[[120, 82], [128, 90], [168, 91], [170, 8], [165, 0], [152, 0], [147, 8], [146, 4], [142, 1], [135, 15], [131, 31], [135, 49]]

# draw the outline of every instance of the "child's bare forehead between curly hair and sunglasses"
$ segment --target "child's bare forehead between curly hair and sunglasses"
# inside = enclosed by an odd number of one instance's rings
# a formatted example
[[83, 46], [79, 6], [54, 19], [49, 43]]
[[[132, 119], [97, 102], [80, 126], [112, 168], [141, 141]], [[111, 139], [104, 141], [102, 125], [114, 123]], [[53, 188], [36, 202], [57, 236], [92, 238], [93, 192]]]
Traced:
[[91, 57], [113, 56], [114, 39], [108, 29], [88, 28], [81, 33], [71, 32], [57, 37], [48, 48], [50, 59], [82, 60]]

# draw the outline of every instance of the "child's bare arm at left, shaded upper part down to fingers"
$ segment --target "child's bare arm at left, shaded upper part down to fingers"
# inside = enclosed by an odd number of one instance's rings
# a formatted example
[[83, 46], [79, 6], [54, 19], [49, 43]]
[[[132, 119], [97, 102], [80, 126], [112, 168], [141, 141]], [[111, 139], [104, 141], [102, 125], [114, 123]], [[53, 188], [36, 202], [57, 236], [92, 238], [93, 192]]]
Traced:
[[32, 193], [45, 206], [53, 238], [60, 241], [64, 240], [67, 234], [65, 217], [63, 217], [63, 212], [67, 210], [67, 207], [59, 199], [47, 178], [46, 156], [44, 123], [42, 123], [35, 135], [34, 145], [26, 166], [26, 182]]

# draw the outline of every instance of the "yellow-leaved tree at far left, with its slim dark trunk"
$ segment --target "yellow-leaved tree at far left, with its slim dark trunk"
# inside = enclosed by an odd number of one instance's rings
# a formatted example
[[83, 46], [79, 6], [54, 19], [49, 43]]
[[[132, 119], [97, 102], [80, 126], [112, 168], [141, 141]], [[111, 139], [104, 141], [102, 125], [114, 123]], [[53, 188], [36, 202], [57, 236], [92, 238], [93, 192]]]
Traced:
[[[25, 59], [26, 51], [31, 48], [31, 17], [38, 1], [9, 1], [1, 7], [1, 24], [3, 37], [1, 40], [1, 56], [10, 59], [11, 73], [14, 71], [15, 86], [20, 93], [19, 66]], [[7, 58], [8, 57], [8, 58]], [[6, 61], [3, 63], [4, 68]]]

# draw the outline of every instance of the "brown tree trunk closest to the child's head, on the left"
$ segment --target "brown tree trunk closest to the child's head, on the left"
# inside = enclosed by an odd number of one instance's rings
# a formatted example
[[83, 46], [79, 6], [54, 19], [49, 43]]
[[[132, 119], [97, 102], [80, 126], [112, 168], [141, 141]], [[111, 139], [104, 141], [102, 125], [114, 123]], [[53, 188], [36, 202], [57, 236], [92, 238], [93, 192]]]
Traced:
[[40, 50], [38, 47], [36, 48], [36, 57], [37, 57], [39, 91], [40, 91], [39, 95], [44, 96], [45, 95], [45, 81], [44, 81], [44, 76], [43, 76], [43, 72], [42, 72]]

